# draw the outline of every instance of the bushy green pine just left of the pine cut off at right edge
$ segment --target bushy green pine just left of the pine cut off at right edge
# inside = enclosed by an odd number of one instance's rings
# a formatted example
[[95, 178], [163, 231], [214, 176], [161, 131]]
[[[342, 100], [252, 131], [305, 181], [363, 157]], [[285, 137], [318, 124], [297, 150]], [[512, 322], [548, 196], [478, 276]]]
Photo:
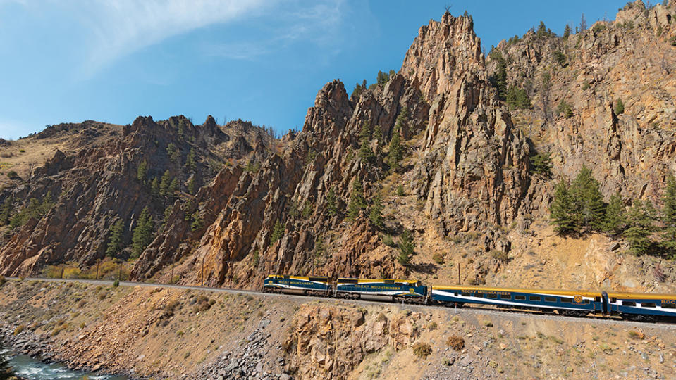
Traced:
[[651, 235], [656, 231], [655, 220], [656, 211], [651, 201], [634, 201], [627, 213], [629, 228], [624, 233], [633, 253], [642, 255], [651, 251], [654, 245]]

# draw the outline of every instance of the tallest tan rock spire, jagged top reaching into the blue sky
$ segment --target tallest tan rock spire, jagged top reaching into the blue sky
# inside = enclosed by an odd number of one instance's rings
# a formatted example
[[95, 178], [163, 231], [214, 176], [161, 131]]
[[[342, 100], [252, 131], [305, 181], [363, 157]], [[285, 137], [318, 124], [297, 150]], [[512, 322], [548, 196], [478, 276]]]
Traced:
[[510, 223], [527, 191], [529, 146], [488, 84], [472, 18], [422, 27], [401, 72], [431, 103], [412, 187], [444, 234]]

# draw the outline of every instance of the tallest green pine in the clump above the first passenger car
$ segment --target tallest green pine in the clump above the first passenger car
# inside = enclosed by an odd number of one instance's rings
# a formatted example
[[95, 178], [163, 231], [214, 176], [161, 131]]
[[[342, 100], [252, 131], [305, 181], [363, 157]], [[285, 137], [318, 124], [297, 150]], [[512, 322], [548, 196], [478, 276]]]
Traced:
[[603, 195], [598, 188], [598, 182], [591, 175], [589, 167], [582, 165], [582, 169], [570, 186], [575, 210], [574, 220], [579, 227], [584, 227], [582, 231], [603, 229], [606, 203], [603, 203]]

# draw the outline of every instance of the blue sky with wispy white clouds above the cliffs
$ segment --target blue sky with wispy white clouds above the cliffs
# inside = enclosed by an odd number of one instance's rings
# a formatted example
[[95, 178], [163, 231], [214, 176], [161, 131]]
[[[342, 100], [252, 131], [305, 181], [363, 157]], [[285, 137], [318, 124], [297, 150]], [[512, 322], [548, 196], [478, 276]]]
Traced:
[[0, 137], [183, 114], [302, 127], [326, 82], [398, 70], [421, 25], [465, 10], [489, 50], [625, 1], [0, 0]]

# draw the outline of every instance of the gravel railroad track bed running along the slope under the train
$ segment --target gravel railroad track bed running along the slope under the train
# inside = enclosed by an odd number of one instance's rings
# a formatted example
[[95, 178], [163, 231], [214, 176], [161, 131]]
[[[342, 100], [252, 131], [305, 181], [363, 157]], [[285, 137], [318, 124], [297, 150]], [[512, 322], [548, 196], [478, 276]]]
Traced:
[[[18, 277], [6, 277], [8, 280], [19, 281]], [[92, 280], [92, 279], [50, 279], [43, 277], [26, 277], [23, 281], [43, 281], [43, 282], [61, 282], [61, 283], [79, 283], [79, 284], [92, 284], [92, 285], [109, 285], [112, 286], [114, 281], [108, 280]], [[663, 329], [669, 329], [676, 331], [676, 324], [669, 322], [638, 322], [630, 321], [626, 319], [619, 319], [614, 317], [568, 317], [565, 315], [556, 315], [551, 313], [543, 312], [534, 312], [529, 310], [513, 310], [513, 309], [496, 309], [496, 308], [481, 308], [481, 307], [470, 307], [464, 306], [462, 308], [453, 308], [448, 306], [441, 305], [419, 305], [411, 303], [388, 303], [379, 300], [364, 300], [364, 299], [346, 299], [346, 298], [330, 298], [330, 297], [318, 297], [318, 296], [303, 296], [300, 294], [288, 294], [288, 293], [267, 293], [264, 291], [255, 291], [250, 289], [230, 289], [230, 288], [214, 288], [210, 286], [194, 286], [194, 285], [175, 285], [175, 284], [154, 284], [150, 282], [136, 282], [136, 281], [119, 281], [119, 286], [140, 286], [142, 288], [161, 288], [161, 289], [181, 289], [181, 290], [195, 290], [195, 291], [210, 291], [214, 293], [230, 293], [230, 294], [251, 294], [254, 296], [259, 296], [263, 298], [279, 298], [285, 297], [293, 300], [327, 300], [333, 303], [338, 304], [350, 304], [350, 305], [401, 305], [409, 310], [424, 312], [430, 309], [438, 309], [445, 311], [452, 311], [453, 314], [459, 315], [486, 315], [492, 317], [529, 317], [534, 319], [549, 319], [561, 322], [593, 322], [595, 324], [613, 324], [618, 327], [641, 327], [641, 328], [650, 328], [650, 327], [660, 327]]]

